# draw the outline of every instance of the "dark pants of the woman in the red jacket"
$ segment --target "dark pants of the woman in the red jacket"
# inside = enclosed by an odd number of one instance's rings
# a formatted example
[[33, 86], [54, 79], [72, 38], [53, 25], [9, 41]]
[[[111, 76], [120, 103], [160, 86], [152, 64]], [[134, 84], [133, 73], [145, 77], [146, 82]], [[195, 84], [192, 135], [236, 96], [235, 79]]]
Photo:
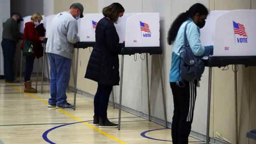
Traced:
[[30, 80], [31, 74], [33, 72], [34, 68], [34, 60], [35, 56], [26, 56], [26, 68], [25, 68], [25, 76], [24, 76], [24, 82], [27, 82]]

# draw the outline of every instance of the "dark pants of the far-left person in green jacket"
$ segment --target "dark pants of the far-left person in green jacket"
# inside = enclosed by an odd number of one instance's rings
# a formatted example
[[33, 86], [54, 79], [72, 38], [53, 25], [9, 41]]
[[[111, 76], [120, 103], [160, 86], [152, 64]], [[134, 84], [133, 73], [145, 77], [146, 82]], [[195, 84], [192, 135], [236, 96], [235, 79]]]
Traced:
[[14, 81], [13, 63], [16, 53], [16, 42], [3, 39], [1, 42], [4, 56], [4, 79], [7, 82]]

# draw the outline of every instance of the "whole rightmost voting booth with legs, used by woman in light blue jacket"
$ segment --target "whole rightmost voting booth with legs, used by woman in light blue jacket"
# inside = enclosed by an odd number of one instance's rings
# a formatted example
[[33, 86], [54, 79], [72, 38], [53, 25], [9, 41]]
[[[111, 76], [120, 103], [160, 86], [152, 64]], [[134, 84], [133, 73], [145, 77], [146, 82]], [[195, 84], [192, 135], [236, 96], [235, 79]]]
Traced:
[[[209, 67], [208, 110], [206, 143], [210, 137], [210, 103], [212, 67], [235, 65], [235, 106], [237, 113], [237, 65], [256, 66], [256, 10], [212, 11], [201, 29], [202, 45], [213, 45], [213, 55], [204, 57]], [[256, 139], [256, 130], [247, 133], [248, 138]], [[238, 143], [238, 123], [236, 116], [236, 144]]]

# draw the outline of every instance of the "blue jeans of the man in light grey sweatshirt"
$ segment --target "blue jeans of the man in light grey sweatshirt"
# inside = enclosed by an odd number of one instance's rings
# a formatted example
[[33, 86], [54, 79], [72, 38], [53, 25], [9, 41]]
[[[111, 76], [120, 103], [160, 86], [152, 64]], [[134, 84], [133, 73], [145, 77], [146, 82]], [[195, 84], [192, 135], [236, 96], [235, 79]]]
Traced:
[[70, 79], [72, 60], [58, 54], [48, 53], [50, 62], [50, 105], [64, 106], [67, 103], [66, 89]]

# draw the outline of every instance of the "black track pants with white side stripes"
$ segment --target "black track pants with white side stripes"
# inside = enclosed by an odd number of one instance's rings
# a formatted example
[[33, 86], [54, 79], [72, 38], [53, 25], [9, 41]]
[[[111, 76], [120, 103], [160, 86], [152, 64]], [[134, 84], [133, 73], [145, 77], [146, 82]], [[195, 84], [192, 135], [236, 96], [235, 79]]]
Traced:
[[188, 144], [188, 136], [193, 121], [197, 82], [185, 82], [185, 84], [184, 88], [180, 88], [175, 82], [170, 82], [174, 102], [172, 117], [173, 144]]

